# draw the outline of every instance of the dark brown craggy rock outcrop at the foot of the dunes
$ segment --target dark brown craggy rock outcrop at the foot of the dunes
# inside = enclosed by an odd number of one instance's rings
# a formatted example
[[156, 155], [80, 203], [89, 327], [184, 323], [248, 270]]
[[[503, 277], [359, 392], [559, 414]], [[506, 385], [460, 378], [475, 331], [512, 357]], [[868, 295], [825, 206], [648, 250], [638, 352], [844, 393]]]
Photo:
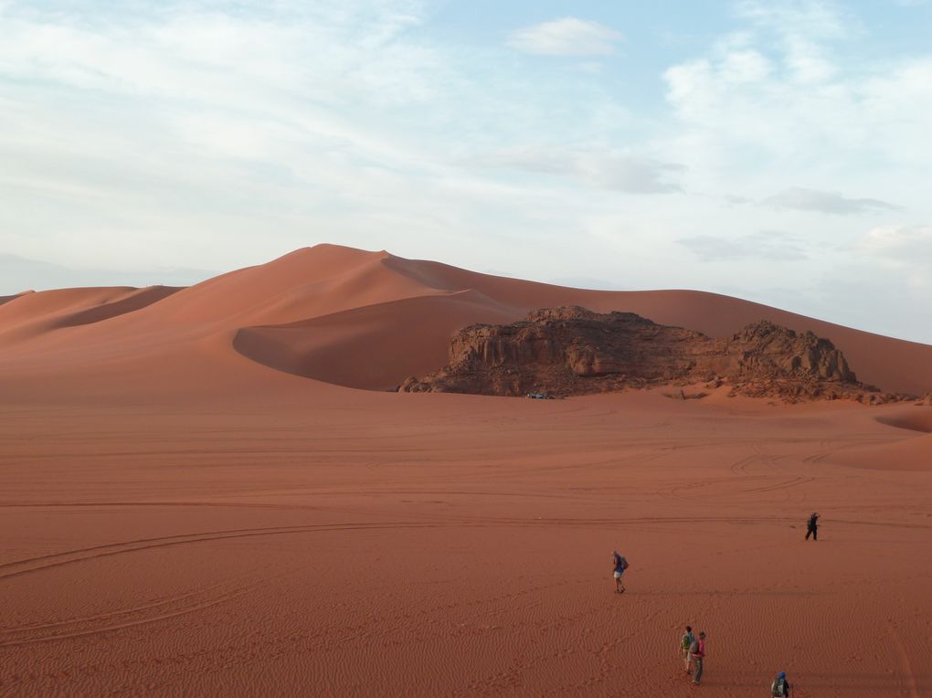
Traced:
[[696, 383], [791, 402], [892, 397], [858, 383], [842, 352], [811, 332], [761, 321], [717, 339], [634, 313], [575, 307], [466, 327], [451, 342], [443, 369], [408, 378], [400, 390], [567, 396]]

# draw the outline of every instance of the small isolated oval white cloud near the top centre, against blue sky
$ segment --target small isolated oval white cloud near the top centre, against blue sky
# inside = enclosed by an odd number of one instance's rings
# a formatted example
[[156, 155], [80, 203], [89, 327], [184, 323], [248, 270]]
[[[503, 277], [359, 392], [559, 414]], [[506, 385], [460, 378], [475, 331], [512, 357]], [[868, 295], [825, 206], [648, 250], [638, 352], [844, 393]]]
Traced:
[[622, 34], [596, 21], [564, 17], [519, 29], [508, 45], [525, 53], [552, 56], [600, 56], [614, 52]]

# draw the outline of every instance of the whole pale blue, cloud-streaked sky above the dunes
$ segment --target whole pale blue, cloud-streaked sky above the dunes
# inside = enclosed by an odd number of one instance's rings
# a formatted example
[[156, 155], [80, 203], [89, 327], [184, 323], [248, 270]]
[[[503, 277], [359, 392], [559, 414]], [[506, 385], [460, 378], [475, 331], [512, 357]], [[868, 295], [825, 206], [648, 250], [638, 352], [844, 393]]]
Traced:
[[930, 34], [929, 0], [0, 0], [0, 294], [332, 242], [932, 343]]

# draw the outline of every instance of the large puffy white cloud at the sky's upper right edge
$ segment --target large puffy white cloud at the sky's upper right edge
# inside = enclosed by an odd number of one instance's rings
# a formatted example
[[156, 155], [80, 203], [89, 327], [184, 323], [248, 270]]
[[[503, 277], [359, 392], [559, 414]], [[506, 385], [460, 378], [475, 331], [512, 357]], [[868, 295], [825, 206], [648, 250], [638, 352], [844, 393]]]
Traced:
[[[863, 30], [834, 6], [740, 7], [746, 28], [665, 71], [666, 98], [677, 118], [667, 157], [675, 153], [691, 172], [702, 173], [706, 188], [714, 181], [757, 188], [752, 198], [780, 183], [813, 191], [857, 187], [875, 200], [911, 203], [901, 200], [904, 185], [911, 192], [928, 163], [921, 144], [932, 111], [932, 59], [894, 55], [880, 64], [846, 56], [841, 62], [836, 44], [851, 48]], [[832, 69], [803, 68], [800, 42], [814, 46]], [[870, 210], [869, 202], [861, 203], [855, 208]]]

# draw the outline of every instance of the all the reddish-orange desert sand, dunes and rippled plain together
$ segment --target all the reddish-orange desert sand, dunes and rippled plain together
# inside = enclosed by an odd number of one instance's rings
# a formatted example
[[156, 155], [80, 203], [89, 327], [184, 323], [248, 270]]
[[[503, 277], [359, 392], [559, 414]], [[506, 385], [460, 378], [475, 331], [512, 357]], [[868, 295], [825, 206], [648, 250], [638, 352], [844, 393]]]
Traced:
[[708, 695], [932, 695], [932, 407], [386, 391], [556, 305], [932, 392], [932, 347], [727, 296], [336, 246], [0, 298], [0, 694], [678, 696], [691, 624]]

